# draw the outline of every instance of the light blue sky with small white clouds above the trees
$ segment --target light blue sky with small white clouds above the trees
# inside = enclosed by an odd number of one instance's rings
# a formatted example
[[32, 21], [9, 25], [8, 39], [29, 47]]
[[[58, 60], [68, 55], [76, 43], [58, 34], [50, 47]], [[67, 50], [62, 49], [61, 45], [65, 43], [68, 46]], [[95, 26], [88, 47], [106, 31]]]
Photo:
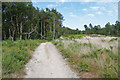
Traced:
[[33, 2], [39, 9], [56, 8], [64, 16], [63, 25], [84, 30], [84, 25], [114, 24], [118, 20], [117, 2]]

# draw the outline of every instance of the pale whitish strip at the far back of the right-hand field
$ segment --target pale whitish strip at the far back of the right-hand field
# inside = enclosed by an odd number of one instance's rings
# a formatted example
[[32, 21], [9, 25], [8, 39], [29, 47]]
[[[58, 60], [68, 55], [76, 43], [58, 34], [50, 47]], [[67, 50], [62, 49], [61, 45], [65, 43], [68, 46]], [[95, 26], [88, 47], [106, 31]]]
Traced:
[[[91, 43], [93, 46], [95, 46], [96, 48], [106, 48], [106, 49], [110, 49], [110, 46], [113, 47], [113, 51], [118, 53], [118, 40], [115, 40], [113, 42], [109, 42], [111, 39], [113, 38], [117, 38], [117, 37], [90, 37], [90, 36], [86, 36], [86, 37], [82, 37], [80, 39], [74, 39], [74, 41], [77, 41], [77, 43]], [[104, 42], [102, 42], [102, 40], [105, 40]], [[69, 46], [70, 43], [74, 43], [73, 40], [65, 40], [63, 39], [62, 42], [64, 43], [64, 48], [67, 48]]]

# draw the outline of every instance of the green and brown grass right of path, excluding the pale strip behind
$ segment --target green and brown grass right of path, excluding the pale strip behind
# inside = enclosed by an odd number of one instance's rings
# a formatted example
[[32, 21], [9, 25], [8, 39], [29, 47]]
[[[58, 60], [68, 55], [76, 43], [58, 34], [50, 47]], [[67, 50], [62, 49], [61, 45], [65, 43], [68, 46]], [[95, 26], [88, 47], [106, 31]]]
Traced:
[[65, 47], [64, 40], [53, 41], [53, 44], [62, 52], [64, 58], [81, 78], [118, 77], [118, 53], [113, 51], [113, 47], [97, 48], [90, 42], [78, 43], [76, 41]]

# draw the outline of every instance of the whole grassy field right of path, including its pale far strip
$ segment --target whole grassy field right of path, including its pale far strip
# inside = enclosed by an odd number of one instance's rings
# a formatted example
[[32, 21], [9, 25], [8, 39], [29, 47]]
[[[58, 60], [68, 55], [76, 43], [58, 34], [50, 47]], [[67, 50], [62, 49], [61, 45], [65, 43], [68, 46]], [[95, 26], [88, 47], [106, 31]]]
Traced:
[[[62, 45], [60, 45], [60, 43]], [[67, 55], [81, 78], [116, 78], [118, 76], [118, 38], [117, 37], [82, 37], [80, 39], [58, 40], [58, 49]], [[82, 65], [83, 62], [85, 65]], [[79, 68], [77, 66], [79, 65]], [[85, 68], [84, 68], [85, 67]], [[81, 68], [83, 70], [81, 71]]]

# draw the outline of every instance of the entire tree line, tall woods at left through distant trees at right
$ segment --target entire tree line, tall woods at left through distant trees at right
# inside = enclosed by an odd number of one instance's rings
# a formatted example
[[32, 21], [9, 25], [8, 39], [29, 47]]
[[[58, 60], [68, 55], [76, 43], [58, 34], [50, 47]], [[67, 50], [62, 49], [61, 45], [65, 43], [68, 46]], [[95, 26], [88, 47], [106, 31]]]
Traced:
[[64, 17], [56, 9], [35, 8], [32, 2], [2, 3], [2, 40], [46, 39], [54, 40], [64, 34], [103, 34], [117, 35], [120, 23], [84, 25], [85, 30], [70, 29], [62, 25]]

